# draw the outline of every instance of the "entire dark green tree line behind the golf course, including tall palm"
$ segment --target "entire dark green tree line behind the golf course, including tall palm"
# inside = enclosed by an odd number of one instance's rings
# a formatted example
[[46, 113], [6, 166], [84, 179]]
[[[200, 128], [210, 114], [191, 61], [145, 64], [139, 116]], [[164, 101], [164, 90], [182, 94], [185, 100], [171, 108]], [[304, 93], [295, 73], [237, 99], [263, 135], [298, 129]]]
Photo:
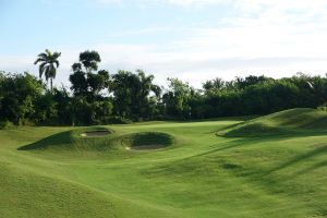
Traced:
[[326, 76], [214, 78], [201, 89], [168, 78], [165, 88], [142, 70], [114, 74], [99, 70], [99, 53], [88, 50], [72, 64], [70, 87], [53, 87], [60, 56], [49, 50], [38, 55], [35, 64], [39, 64], [39, 78], [27, 72], [0, 72], [0, 122], [89, 125], [210, 119], [316, 108], [327, 99]]

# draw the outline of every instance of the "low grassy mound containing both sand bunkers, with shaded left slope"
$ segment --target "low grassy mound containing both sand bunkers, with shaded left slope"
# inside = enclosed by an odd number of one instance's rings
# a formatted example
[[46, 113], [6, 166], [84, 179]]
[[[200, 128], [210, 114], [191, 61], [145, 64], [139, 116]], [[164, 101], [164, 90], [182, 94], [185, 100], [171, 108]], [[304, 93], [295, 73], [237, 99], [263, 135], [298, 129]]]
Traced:
[[[173, 144], [173, 137], [160, 132], [141, 132], [132, 134], [114, 133], [107, 128], [82, 128], [57, 133], [35, 143], [19, 147], [19, 150], [74, 153], [77, 156], [106, 152], [160, 149]], [[116, 154], [117, 155], [117, 154]]]

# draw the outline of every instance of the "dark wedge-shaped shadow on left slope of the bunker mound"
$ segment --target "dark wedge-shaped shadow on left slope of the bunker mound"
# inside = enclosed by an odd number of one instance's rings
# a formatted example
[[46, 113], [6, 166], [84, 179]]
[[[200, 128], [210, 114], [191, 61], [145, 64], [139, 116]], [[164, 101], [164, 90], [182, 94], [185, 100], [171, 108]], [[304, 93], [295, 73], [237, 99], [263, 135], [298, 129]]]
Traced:
[[71, 131], [50, 135], [35, 143], [19, 147], [17, 150], [37, 150], [48, 147], [59, 147], [72, 143]]

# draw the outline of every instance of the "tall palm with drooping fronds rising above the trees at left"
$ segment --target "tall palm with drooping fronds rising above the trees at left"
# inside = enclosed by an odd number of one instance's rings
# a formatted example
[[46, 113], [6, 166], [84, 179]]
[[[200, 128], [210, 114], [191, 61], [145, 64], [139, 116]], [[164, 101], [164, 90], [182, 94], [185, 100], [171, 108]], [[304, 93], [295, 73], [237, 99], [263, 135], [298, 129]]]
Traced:
[[46, 52], [39, 53], [34, 62], [34, 64], [39, 63], [39, 77], [41, 78], [45, 74], [47, 83], [50, 78], [51, 92], [53, 88], [52, 81], [56, 77], [57, 69], [59, 68], [58, 58], [60, 56], [61, 52], [52, 53], [50, 50], [46, 49]]

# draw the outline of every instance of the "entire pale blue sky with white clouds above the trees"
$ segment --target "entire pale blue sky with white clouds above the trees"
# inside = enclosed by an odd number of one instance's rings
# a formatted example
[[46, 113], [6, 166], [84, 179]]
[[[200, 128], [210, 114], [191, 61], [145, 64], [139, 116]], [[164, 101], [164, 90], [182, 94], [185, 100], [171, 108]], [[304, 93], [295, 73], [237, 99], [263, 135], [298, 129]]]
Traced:
[[160, 84], [324, 75], [326, 11], [324, 0], [0, 0], [0, 70], [37, 75], [49, 48], [62, 52], [56, 84], [86, 49], [111, 73], [143, 69]]

